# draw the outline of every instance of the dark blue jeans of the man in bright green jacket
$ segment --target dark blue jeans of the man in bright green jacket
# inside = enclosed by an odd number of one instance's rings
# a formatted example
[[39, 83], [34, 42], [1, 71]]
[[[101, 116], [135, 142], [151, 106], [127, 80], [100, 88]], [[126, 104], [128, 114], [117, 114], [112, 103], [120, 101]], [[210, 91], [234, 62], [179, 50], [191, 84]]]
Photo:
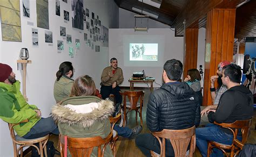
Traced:
[[59, 134], [58, 126], [53, 121], [52, 117], [41, 118], [23, 138], [34, 139], [43, 137], [46, 134]]

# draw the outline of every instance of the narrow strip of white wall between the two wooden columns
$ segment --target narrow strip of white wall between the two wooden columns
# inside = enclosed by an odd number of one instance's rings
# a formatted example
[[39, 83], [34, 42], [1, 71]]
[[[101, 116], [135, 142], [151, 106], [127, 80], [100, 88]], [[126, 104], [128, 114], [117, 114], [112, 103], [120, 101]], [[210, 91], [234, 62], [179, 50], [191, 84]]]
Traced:
[[[206, 29], [203, 27], [200, 28], [198, 31], [197, 69], [199, 69], [199, 65], [202, 65], [203, 72], [205, 72], [205, 39], [206, 39], [205, 34], [206, 34]], [[201, 82], [201, 87], [204, 87], [204, 77], [200, 82]]]

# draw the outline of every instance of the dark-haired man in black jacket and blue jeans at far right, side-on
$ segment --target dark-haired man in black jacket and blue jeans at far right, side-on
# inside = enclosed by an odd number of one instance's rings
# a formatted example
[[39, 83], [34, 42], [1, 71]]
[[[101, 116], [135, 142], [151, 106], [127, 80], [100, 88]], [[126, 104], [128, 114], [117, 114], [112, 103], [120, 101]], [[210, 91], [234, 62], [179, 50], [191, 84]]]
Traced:
[[[240, 85], [241, 67], [231, 64], [223, 68], [221, 80], [228, 88], [220, 97], [217, 109], [208, 111], [211, 123], [233, 123], [235, 120], [246, 120], [253, 116], [253, 95], [244, 85]], [[238, 132], [241, 140], [241, 132]], [[207, 155], [207, 141], [216, 141], [221, 144], [231, 145], [233, 134], [230, 130], [215, 124], [196, 129], [196, 142], [200, 153]], [[223, 156], [219, 149], [213, 149], [212, 156]]]

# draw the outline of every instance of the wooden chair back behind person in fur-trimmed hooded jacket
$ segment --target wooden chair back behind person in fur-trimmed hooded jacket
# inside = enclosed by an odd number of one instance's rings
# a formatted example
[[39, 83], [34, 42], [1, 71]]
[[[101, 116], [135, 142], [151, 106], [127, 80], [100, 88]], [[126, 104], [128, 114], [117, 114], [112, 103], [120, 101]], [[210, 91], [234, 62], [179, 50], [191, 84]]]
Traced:
[[[100, 136], [90, 137], [90, 138], [72, 138], [66, 137], [67, 146], [72, 157], [80, 156], [91, 156], [94, 147], [98, 147], [98, 157], [104, 156], [104, 151], [106, 146], [113, 140], [113, 133], [110, 132], [106, 138], [101, 138]], [[59, 134], [59, 144], [60, 144], [60, 156], [64, 156], [65, 151], [65, 135]], [[101, 146], [104, 145], [103, 149]]]

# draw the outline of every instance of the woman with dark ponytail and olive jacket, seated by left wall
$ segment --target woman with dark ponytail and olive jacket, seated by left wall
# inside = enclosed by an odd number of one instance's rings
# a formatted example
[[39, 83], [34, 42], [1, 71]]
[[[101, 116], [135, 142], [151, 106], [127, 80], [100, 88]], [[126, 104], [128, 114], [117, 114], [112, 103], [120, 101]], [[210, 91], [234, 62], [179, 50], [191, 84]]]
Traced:
[[71, 79], [74, 70], [75, 69], [73, 68], [71, 62], [65, 61], [59, 65], [59, 70], [56, 73], [57, 79], [53, 88], [53, 96], [56, 103], [62, 101], [66, 97], [69, 97], [74, 81]]

